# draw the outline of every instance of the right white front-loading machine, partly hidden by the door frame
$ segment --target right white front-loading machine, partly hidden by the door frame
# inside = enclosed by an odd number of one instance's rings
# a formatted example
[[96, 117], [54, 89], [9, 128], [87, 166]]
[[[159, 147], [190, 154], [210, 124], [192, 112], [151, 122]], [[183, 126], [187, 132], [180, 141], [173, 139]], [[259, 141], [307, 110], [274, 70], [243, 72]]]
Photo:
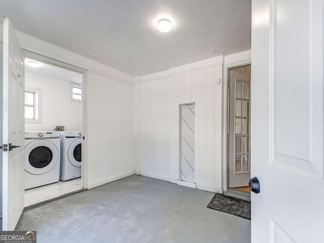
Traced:
[[60, 180], [81, 177], [81, 132], [60, 132], [61, 173]]

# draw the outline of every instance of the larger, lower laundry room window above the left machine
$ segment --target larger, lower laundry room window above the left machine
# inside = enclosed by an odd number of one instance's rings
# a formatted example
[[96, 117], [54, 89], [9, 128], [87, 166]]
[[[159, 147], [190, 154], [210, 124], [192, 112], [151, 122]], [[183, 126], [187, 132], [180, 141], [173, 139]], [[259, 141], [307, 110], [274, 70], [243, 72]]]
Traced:
[[41, 121], [41, 90], [34, 88], [25, 89], [25, 121]]

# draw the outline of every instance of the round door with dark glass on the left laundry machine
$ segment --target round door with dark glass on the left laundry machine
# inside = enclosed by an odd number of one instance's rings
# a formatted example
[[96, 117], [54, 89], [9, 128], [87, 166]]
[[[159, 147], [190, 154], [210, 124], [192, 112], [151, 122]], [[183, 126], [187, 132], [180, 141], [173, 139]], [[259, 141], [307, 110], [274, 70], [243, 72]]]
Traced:
[[36, 140], [25, 147], [25, 171], [34, 175], [49, 172], [59, 161], [57, 147], [48, 140]]

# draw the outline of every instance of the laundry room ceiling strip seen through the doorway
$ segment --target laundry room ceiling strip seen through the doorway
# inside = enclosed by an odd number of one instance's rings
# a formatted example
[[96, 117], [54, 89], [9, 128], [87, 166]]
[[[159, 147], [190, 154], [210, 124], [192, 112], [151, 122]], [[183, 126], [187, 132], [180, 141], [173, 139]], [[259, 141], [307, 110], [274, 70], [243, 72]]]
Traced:
[[30, 58], [25, 58], [25, 62], [27, 64], [27, 61], [35, 61], [39, 64], [39, 67], [30, 67], [28, 65], [25, 65], [25, 71], [40, 74], [43, 76], [53, 77], [61, 80], [66, 80], [68, 82], [73, 82], [77, 84], [82, 83], [82, 74], [73, 72], [61, 67], [57, 67], [54, 65], [50, 65], [47, 63], [39, 62], [37, 60], [33, 60]]

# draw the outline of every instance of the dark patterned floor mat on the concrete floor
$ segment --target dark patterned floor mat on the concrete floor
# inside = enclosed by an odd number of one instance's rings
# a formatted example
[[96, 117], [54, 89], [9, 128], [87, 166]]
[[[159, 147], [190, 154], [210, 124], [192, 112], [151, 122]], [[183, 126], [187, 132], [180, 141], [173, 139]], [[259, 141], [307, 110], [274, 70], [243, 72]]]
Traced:
[[207, 208], [251, 220], [251, 202], [215, 193]]

